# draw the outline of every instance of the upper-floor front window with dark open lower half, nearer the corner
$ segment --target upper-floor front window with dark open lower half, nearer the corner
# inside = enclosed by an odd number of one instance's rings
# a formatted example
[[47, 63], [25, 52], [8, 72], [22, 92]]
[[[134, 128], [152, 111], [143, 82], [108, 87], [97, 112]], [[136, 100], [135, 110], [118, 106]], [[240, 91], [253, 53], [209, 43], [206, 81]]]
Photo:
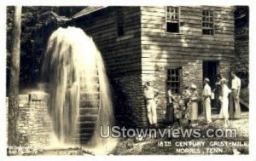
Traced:
[[179, 32], [179, 8], [166, 7], [166, 32]]

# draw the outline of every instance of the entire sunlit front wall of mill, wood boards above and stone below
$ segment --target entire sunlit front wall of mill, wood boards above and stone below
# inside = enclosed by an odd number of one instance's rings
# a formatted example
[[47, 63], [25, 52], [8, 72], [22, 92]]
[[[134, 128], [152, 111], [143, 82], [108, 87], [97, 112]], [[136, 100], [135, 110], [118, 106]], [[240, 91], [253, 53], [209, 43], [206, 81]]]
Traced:
[[[214, 34], [202, 35], [202, 9], [214, 10]], [[179, 32], [166, 32], [166, 7], [141, 7], [142, 75], [160, 92], [166, 92], [166, 69], [182, 67], [182, 84], [202, 89], [204, 60], [218, 60], [224, 77], [230, 72], [234, 50], [234, 9], [180, 6]], [[158, 96], [159, 121], [164, 120], [166, 95]]]

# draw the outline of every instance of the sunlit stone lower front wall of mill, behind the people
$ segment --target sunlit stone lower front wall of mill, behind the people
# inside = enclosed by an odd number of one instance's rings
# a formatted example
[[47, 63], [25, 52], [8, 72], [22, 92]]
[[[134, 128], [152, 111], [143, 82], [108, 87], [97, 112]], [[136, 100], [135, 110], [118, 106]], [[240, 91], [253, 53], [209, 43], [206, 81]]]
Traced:
[[[190, 86], [194, 83], [201, 95], [203, 89], [203, 60], [190, 60], [187, 63], [181, 64], [181, 91], [183, 93], [183, 85]], [[143, 74], [143, 84], [149, 82], [154, 89], [158, 89], [162, 94], [157, 96], [157, 116], [159, 122], [164, 122], [166, 117], [166, 68], [158, 66], [152, 74]], [[229, 80], [230, 77], [230, 62], [220, 60], [218, 70], [222, 76]], [[201, 104], [200, 104], [201, 106]], [[200, 109], [202, 112], [202, 109]]]

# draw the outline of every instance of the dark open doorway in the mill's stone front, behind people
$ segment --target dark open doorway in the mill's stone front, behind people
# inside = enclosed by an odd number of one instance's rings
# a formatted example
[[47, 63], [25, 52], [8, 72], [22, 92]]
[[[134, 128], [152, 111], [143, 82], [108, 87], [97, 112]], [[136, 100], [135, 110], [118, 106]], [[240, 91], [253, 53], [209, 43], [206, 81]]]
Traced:
[[[215, 89], [215, 83], [217, 82], [218, 76], [218, 61], [203, 61], [203, 78], [210, 79], [211, 89]], [[211, 100], [212, 112], [218, 112], [219, 106], [217, 103], [218, 98]]]

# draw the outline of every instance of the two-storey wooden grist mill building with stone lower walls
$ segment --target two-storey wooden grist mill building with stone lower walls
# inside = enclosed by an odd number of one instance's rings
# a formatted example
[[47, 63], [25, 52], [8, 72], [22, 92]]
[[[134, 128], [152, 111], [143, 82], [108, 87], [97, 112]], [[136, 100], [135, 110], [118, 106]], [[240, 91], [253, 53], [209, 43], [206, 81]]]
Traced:
[[[148, 125], [143, 84], [181, 93], [207, 77], [229, 79], [235, 57], [234, 8], [212, 6], [86, 7], [70, 25], [81, 27], [100, 49], [113, 89], [117, 123]], [[158, 96], [164, 121], [166, 95]]]

